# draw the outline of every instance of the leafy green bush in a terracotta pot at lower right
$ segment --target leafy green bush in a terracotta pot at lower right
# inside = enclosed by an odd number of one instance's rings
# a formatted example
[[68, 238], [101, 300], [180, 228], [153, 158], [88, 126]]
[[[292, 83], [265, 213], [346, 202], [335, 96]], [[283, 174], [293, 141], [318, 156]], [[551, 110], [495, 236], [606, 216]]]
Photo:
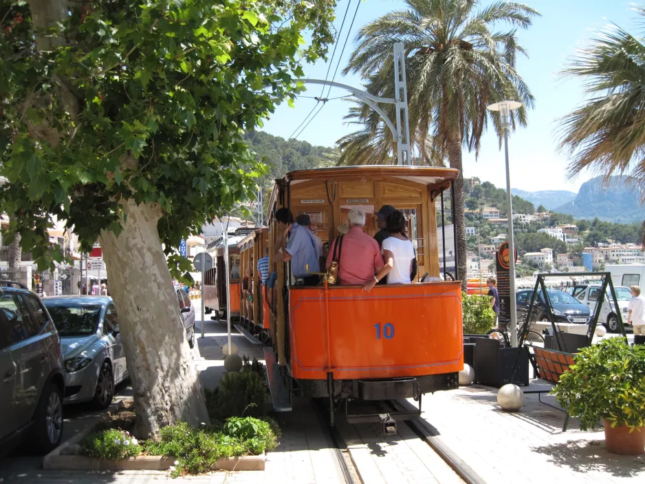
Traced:
[[573, 361], [553, 390], [560, 405], [580, 419], [580, 430], [602, 421], [609, 452], [645, 452], [645, 346], [607, 338], [580, 348]]

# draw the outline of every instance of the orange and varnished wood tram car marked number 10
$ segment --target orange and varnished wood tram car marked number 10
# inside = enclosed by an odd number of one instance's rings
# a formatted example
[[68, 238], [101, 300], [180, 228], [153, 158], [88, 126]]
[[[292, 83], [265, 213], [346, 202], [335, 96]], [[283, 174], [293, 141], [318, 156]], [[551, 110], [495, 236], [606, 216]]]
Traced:
[[[457, 388], [463, 369], [461, 282], [439, 274], [437, 234], [443, 233], [445, 205], [437, 224], [435, 203], [458, 175], [437, 167], [365, 166], [293, 171], [276, 180], [267, 213], [276, 304], [275, 311], [267, 311], [272, 348], [265, 348], [276, 410], [291, 410], [294, 396], [325, 398], [332, 425], [334, 410], [344, 403], [348, 421], [381, 421], [389, 433], [397, 418], [420, 413], [423, 394]], [[378, 231], [373, 213], [385, 204], [406, 215], [406, 235], [417, 254], [412, 284], [377, 285], [369, 293], [361, 286], [329, 285], [325, 277], [319, 286], [296, 285], [290, 262], [274, 262], [278, 209], [287, 207], [294, 219], [307, 213], [311, 232], [325, 246], [340, 235], [337, 227], [354, 207], [366, 213], [363, 230], [373, 236]], [[320, 269], [325, 269], [322, 259]], [[418, 401], [417, 412], [348, 410], [351, 400], [406, 398]]]

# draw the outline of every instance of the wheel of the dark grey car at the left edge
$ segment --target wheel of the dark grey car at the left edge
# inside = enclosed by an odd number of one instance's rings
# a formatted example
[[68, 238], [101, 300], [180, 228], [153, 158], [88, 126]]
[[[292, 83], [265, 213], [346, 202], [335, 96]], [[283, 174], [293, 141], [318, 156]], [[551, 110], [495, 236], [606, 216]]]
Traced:
[[36, 409], [34, 427], [36, 449], [47, 454], [61, 444], [63, 438], [63, 394], [56, 383], [50, 383]]

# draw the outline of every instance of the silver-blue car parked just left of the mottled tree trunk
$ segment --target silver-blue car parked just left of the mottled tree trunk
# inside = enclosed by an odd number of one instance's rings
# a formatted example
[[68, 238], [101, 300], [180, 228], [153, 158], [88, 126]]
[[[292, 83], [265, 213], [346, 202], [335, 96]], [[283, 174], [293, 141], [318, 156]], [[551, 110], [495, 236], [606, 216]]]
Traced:
[[111, 297], [61, 296], [43, 300], [65, 357], [65, 403], [106, 408], [114, 386], [128, 377], [119, 319]]

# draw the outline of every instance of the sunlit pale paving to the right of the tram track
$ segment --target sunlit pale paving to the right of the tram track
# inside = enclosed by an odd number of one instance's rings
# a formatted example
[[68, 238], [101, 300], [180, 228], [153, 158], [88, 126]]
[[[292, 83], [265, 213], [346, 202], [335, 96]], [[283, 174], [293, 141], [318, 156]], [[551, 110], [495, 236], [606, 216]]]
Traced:
[[[580, 432], [578, 420], [527, 394], [524, 408], [503, 412], [496, 388], [479, 385], [428, 394], [422, 417], [489, 484], [645, 482], [645, 454], [620, 456], [604, 448], [604, 432]], [[544, 394], [543, 401], [554, 403]]]

